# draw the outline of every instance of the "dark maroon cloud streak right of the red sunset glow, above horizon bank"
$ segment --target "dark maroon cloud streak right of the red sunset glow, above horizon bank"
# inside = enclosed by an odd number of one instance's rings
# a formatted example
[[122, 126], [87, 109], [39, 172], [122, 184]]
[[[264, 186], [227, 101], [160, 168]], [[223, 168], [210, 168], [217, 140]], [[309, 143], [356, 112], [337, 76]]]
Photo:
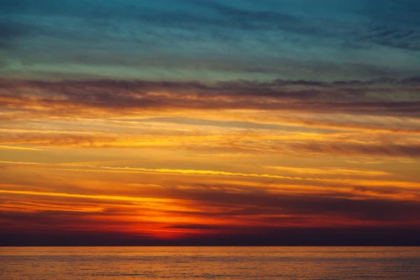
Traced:
[[[377, 198], [353, 199], [322, 195], [272, 195], [263, 193], [230, 194], [199, 193], [195, 199], [216, 204], [244, 206], [245, 211], [233, 215], [326, 215], [337, 221], [346, 219], [369, 221], [420, 221], [420, 203], [415, 201], [385, 200]], [[204, 197], [205, 196], [205, 197]], [[250, 208], [248, 208], [250, 207]], [[254, 208], [255, 207], [255, 208]]]

